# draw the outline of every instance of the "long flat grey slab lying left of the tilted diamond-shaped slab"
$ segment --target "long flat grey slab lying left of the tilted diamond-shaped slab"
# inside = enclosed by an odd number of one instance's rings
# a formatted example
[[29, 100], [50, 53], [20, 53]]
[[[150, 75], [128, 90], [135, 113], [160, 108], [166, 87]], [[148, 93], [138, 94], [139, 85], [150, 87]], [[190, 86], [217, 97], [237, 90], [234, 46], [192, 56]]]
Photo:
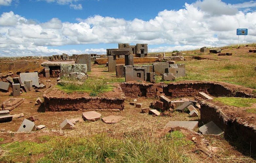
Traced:
[[198, 127], [198, 121], [169, 121], [164, 128], [171, 127], [185, 127], [191, 130], [194, 130], [196, 127]]

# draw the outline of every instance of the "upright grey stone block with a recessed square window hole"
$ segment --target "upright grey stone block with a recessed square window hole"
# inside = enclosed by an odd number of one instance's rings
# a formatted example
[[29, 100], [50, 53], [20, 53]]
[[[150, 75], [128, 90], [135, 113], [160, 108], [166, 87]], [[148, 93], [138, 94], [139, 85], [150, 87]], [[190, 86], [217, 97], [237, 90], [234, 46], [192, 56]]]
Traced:
[[128, 81], [145, 81], [146, 80], [145, 67], [126, 67], [125, 68], [125, 82]]

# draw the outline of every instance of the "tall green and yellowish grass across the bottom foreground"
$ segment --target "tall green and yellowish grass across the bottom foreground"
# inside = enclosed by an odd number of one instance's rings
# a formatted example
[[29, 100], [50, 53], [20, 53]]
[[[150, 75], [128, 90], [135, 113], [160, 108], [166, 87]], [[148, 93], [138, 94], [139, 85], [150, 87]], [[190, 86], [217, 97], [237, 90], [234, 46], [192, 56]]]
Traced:
[[29, 162], [32, 157], [41, 157], [38, 162], [194, 162], [185, 153], [195, 147], [192, 141], [175, 131], [163, 138], [145, 134], [129, 135], [114, 139], [106, 134], [91, 137], [53, 137], [46, 143], [27, 141], [3, 144], [5, 152], [1, 162]]

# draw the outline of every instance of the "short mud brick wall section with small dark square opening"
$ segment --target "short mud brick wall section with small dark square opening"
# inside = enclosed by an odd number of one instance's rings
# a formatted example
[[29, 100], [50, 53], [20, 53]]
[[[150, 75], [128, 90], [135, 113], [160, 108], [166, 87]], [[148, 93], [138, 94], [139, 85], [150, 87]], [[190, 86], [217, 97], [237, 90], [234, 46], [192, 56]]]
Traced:
[[128, 97], [155, 97], [156, 96], [156, 85], [142, 85], [142, 84], [133, 84], [133, 83], [122, 83], [121, 88]]

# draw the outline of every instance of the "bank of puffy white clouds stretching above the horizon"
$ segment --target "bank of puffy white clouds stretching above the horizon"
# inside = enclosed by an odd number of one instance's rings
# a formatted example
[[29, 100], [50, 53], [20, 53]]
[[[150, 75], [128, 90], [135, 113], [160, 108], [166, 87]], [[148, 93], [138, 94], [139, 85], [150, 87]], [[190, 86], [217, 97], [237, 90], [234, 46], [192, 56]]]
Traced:
[[[61, 3], [70, 2], [66, 0]], [[213, 5], [215, 10], [205, 7], [206, 4]], [[243, 3], [241, 6], [248, 5]], [[58, 18], [37, 23], [10, 11], [0, 16], [0, 56], [52, 55], [62, 52], [104, 54], [106, 49], [60, 51], [58, 46], [117, 45], [120, 42], [131, 45], [148, 43], [149, 52], [188, 50], [203, 46], [217, 47], [236, 44], [236, 28], [248, 28], [246, 41], [255, 42], [255, 17], [255, 11], [238, 11], [236, 5], [230, 6], [220, 0], [185, 3], [184, 8], [179, 10], [160, 11], [154, 19], [149, 21], [141, 19], [128, 21], [94, 15], [88, 18], [77, 18], [77, 23], [62, 22]], [[151, 46], [159, 46], [159, 48], [150, 48]]]

